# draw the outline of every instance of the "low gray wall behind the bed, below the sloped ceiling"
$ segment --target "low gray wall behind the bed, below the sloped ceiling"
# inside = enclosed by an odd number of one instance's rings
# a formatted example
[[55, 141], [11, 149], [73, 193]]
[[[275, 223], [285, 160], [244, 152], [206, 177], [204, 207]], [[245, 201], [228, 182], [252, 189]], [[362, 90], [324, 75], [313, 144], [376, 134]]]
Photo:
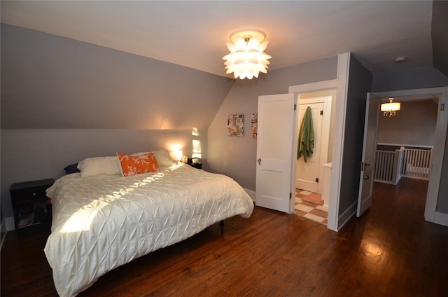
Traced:
[[[131, 129], [1, 129], [1, 207], [13, 216], [9, 187], [15, 182], [57, 179], [67, 165], [84, 158], [182, 147], [190, 155], [193, 139], [207, 156], [207, 132]], [[207, 160], [207, 158], [204, 158]]]

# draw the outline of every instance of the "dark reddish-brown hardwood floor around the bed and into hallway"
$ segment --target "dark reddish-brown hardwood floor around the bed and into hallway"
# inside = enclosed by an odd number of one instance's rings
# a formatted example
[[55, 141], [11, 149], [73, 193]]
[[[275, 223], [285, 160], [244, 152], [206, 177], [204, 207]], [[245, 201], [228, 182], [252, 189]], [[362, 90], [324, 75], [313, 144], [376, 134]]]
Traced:
[[[426, 181], [375, 184], [339, 233], [255, 207], [109, 272], [79, 296], [448, 296], [448, 227], [423, 220]], [[10, 232], [1, 296], [57, 296], [45, 234]]]

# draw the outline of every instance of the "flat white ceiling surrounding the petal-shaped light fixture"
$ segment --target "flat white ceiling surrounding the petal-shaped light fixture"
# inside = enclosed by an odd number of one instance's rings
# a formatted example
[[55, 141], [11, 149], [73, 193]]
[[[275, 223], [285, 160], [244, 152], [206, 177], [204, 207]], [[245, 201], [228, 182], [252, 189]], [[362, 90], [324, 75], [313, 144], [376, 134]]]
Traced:
[[[433, 66], [432, 1], [1, 1], [1, 22], [226, 76], [225, 42], [261, 29], [269, 70], [352, 52], [372, 73]], [[395, 57], [408, 57], [395, 63]]]

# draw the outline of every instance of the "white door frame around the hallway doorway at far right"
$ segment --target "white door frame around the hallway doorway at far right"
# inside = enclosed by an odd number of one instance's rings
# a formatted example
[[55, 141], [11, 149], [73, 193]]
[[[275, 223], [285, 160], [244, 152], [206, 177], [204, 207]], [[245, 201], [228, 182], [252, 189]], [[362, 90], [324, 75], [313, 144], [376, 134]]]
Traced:
[[[426, 195], [425, 220], [431, 223], [438, 223], [448, 226], [448, 215], [436, 212], [437, 199], [439, 195], [440, 179], [442, 177], [442, 165], [444, 146], [448, 129], [448, 88], [424, 88], [414, 90], [397, 90], [389, 92], [372, 92], [373, 95], [383, 98], [388, 97], [405, 97], [405, 96], [422, 96], [422, 95], [439, 95], [439, 103], [437, 107], [437, 122], [434, 135], [434, 152], [433, 152], [433, 168], [428, 182], [428, 193]], [[442, 111], [441, 104], [444, 104]]]

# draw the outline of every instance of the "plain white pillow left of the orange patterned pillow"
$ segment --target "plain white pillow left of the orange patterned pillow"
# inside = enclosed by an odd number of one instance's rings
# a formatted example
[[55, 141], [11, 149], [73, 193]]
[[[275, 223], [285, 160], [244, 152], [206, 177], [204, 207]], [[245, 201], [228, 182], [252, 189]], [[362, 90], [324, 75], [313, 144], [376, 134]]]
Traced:
[[81, 177], [120, 174], [120, 163], [117, 156], [87, 158], [80, 161], [77, 168], [81, 172]]

